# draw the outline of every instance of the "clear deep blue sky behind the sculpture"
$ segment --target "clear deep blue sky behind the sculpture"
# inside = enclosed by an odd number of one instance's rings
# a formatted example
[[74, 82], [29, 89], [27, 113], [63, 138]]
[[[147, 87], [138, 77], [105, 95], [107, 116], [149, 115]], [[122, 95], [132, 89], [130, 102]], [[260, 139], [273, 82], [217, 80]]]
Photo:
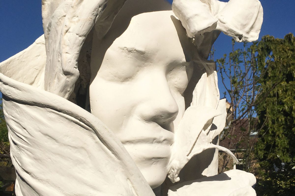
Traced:
[[[295, 0], [260, 2], [264, 11], [260, 38], [268, 34], [283, 38], [287, 33], [295, 33]], [[2, 62], [30, 46], [43, 34], [41, 0], [0, 0], [0, 29]], [[231, 51], [231, 38], [221, 33], [214, 48], [215, 59], [221, 58], [224, 53]], [[224, 92], [221, 85], [220, 91]]]

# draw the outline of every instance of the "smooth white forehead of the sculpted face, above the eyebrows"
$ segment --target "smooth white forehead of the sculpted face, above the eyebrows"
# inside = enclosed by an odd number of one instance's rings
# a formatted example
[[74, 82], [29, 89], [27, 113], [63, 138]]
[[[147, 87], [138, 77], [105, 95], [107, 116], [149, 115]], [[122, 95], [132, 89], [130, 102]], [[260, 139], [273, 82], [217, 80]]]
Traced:
[[134, 16], [108, 51], [112, 55], [115, 51], [124, 51], [120, 54], [137, 53], [150, 58], [189, 61], [189, 45], [186, 31], [173, 12], [157, 11]]

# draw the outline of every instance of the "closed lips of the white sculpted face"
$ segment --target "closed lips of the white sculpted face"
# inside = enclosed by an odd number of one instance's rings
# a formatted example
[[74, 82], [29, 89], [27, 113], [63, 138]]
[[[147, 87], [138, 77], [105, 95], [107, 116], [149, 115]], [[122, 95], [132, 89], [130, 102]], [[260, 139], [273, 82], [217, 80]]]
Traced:
[[155, 122], [136, 121], [128, 125], [118, 137], [136, 163], [168, 161], [174, 133]]

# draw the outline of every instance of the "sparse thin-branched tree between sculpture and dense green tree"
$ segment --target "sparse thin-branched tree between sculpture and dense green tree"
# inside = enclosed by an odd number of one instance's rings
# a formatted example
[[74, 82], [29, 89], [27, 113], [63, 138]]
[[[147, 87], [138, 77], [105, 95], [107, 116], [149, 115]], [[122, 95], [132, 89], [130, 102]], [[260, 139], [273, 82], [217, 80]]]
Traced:
[[[257, 118], [255, 108], [259, 95], [257, 80], [260, 72], [257, 69], [257, 57], [255, 56], [255, 42], [248, 46], [244, 43], [242, 48], [235, 49], [235, 41], [232, 40], [232, 52], [217, 59], [218, 72], [224, 85], [226, 96], [230, 100], [227, 116], [227, 126], [220, 135], [220, 142], [230, 143], [229, 148], [235, 149], [243, 155], [243, 169], [249, 171], [253, 158], [253, 132], [256, 132]], [[211, 59], [214, 50], [211, 53]], [[227, 146], [228, 147], [228, 146]], [[227, 163], [223, 164], [226, 167]], [[223, 169], [221, 169], [223, 170]]]

